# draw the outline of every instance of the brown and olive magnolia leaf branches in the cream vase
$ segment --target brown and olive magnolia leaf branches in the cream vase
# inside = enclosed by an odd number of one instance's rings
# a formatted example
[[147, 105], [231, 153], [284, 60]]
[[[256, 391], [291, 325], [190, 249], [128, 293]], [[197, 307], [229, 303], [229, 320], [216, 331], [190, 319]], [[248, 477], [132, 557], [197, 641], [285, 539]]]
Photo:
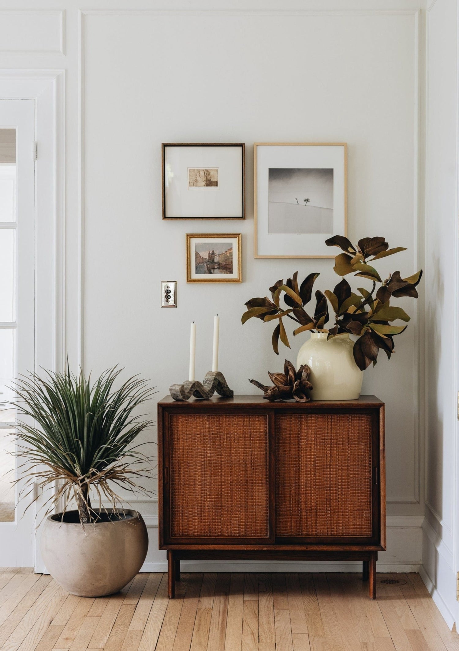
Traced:
[[[272, 348], [276, 354], [279, 353], [279, 339], [290, 348], [282, 322], [284, 316], [299, 324], [293, 332], [294, 335], [307, 330], [328, 332], [328, 337], [343, 333], [358, 335], [360, 339], [354, 345], [354, 359], [357, 366], [365, 370], [372, 362], [373, 365], [376, 364], [380, 349], [384, 350], [390, 359], [394, 352], [393, 337], [406, 329], [406, 326], [393, 326], [391, 322], [410, 320], [410, 316], [402, 308], [390, 305], [390, 300], [404, 296], [417, 298], [416, 286], [423, 272], [417, 271], [402, 278], [400, 271], [394, 271], [382, 280], [378, 271], [368, 263], [406, 250], [404, 247], [389, 249], [389, 244], [382, 237], [363, 238], [354, 245], [347, 238], [335, 235], [326, 240], [326, 244], [337, 246], [343, 251], [335, 258], [335, 273], [345, 276], [354, 272], [355, 276], [369, 279], [373, 281], [371, 290], [359, 287], [359, 293], [354, 294], [350, 284], [343, 278], [333, 292], [325, 290], [322, 293], [316, 290], [315, 309], [313, 316], [309, 316], [305, 306], [311, 300], [313, 285], [319, 273], [309, 273], [298, 286], [298, 271], [295, 271], [293, 277], [287, 279], [285, 284], [280, 280], [269, 288], [272, 299], [265, 296], [247, 301], [247, 311], [243, 314], [242, 322], [244, 324], [252, 317], [264, 322], [278, 320], [272, 333]], [[374, 294], [376, 283], [380, 286]], [[280, 305], [282, 293], [286, 307]], [[335, 324], [328, 329], [324, 327], [330, 319], [327, 299], [335, 313]]]

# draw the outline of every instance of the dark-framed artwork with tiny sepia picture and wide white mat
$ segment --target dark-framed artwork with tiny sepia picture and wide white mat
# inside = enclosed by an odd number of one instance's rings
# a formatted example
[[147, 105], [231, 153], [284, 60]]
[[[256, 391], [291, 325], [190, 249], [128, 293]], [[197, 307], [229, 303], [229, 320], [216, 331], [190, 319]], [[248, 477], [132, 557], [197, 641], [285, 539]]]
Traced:
[[245, 219], [245, 146], [163, 143], [163, 219]]

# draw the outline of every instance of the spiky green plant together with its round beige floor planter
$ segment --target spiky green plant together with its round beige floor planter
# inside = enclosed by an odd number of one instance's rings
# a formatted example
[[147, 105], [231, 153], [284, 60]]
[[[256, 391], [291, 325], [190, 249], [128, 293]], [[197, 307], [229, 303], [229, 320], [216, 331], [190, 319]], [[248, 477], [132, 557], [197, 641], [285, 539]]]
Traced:
[[[137, 376], [115, 389], [119, 374], [112, 368], [91, 382], [81, 371], [70, 373], [67, 362], [62, 374], [31, 374], [14, 386], [21, 495], [33, 493], [35, 484], [51, 493], [42, 557], [53, 578], [79, 596], [118, 592], [140, 570], [148, 549], [142, 516], [118, 508], [116, 490], [148, 493], [137, 480], [151, 476], [151, 463], [133, 444], [151, 424], [135, 411], [153, 390]], [[58, 512], [49, 515], [52, 510]]]

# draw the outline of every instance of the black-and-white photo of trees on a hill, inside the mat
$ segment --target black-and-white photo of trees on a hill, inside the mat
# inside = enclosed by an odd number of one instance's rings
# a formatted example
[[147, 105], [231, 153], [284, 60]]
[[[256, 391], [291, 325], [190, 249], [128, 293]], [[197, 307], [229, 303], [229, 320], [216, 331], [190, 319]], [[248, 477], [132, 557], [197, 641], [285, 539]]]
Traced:
[[333, 169], [269, 168], [270, 233], [333, 232]]

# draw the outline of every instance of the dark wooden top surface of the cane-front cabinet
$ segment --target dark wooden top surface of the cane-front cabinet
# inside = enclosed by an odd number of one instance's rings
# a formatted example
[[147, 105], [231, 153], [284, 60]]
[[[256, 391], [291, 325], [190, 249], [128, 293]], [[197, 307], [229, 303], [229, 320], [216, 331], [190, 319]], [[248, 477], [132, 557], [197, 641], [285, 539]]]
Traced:
[[200, 400], [200, 398], [190, 398], [187, 402], [174, 400], [171, 396], [165, 396], [163, 400], [158, 402], [161, 406], [174, 405], [177, 408], [199, 408], [199, 407], [228, 407], [228, 406], [241, 406], [241, 407], [265, 407], [268, 409], [314, 409], [314, 408], [334, 408], [334, 407], [353, 407], [353, 408], [368, 408], [368, 407], [382, 407], [384, 402], [376, 396], [360, 396], [357, 400], [309, 400], [309, 402], [295, 402], [295, 400], [288, 400], [285, 402], [269, 402], [265, 400], [262, 395], [259, 396], [234, 396], [233, 398], [222, 398], [220, 396], [213, 396], [210, 400]]

